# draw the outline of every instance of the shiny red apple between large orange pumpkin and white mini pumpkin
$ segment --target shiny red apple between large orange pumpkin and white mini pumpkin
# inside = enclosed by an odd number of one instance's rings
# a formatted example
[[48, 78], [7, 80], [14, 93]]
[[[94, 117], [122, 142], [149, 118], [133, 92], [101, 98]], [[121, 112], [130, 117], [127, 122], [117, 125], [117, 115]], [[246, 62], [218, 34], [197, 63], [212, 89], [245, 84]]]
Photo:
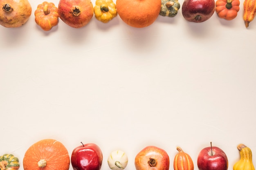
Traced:
[[[81, 142], [82, 143], [82, 142]], [[71, 164], [74, 170], [100, 170], [102, 152], [96, 144], [83, 144], [74, 148], [71, 155]]]

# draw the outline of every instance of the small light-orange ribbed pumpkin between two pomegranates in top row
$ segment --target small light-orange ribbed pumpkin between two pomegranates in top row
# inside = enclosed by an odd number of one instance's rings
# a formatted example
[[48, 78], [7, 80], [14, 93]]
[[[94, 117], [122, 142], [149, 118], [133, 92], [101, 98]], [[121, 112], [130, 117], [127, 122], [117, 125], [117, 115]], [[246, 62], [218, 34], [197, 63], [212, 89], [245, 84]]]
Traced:
[[58, 24], [58, 8], [52, 2], [43, 2], [37, 6], [35, 21], [44, 31]]

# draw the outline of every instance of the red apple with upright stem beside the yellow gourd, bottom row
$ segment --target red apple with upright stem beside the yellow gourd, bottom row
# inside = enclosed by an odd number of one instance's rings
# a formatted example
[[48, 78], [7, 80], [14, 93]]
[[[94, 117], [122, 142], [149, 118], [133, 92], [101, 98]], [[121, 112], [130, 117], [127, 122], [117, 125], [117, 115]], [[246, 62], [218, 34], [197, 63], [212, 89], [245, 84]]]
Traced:
[[227, 170], [228, 159], [225, 152], [216, 147], [203, 148], [198, 155], [198, 170]]

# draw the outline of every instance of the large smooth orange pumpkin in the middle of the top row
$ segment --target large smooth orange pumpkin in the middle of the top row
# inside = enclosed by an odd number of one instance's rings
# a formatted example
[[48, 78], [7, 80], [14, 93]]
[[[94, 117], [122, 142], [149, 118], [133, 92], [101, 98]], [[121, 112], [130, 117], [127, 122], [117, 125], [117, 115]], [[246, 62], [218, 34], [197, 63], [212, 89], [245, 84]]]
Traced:
[[142, 28], [155, 22], [161, 10], [161, 0], [117, 0], [116, 6], [126, 24]]

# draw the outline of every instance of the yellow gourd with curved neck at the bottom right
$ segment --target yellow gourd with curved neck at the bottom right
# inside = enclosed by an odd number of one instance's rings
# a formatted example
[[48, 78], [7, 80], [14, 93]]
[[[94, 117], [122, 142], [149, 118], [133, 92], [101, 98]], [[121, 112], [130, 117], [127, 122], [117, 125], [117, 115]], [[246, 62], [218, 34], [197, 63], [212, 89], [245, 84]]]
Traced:
[[255, 170], [252, 163], [252, 150], [244, 144], [239, 144], [237, 149], [240, 153], [240, 160], [234, 164], [233, 170]]

